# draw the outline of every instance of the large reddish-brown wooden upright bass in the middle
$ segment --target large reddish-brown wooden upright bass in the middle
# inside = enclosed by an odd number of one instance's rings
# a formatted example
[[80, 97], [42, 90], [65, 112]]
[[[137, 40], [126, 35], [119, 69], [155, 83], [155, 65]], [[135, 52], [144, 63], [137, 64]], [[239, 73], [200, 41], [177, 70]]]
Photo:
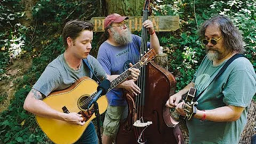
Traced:
[[[146, 0], [142, 22], [148, 19], [150, 10], [150, 1]], [[147, 33], [147, 29], [142, 27], [140, 55], [148, 51]], [[183, 143], [179, 125], [169, 127], [163, 119], [165, 103], [175, 92], [174, 76], [155, 62], [150, 61], [146, 67], [141, 69], [137, 85], [141, 89], [141, 93], [137, 97], [126, 93], [129, 111], [126, 121], [120, 123], [116, 143], [176, 144], [178, 135], [181, 137], [179, 143]]]

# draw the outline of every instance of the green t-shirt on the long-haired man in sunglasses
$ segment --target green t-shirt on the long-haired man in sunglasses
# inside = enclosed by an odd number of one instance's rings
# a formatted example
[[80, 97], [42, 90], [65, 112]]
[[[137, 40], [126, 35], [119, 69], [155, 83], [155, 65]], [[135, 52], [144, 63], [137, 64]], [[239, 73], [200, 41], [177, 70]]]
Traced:
[[[227, 60], [226, 60], [227, 61]], [[199, 94], [209, 85], [225, 62], [213, 66], [204, 58], [194, 75], [193, 82]], [[237, 58], [219, 78], [212, 82], [197, 100], [197, 109], [209, 110], [227, 105], [245, 107], [241, 117], [234, 122], [212, 122], [191, 118], [187, 121], [189, 143], [238, 143], [246, 124], [247, 106], [256, 92], [256, 76], [253, 66], [244, 57]], [[207, 117], [207, 115], [206, 115]]]

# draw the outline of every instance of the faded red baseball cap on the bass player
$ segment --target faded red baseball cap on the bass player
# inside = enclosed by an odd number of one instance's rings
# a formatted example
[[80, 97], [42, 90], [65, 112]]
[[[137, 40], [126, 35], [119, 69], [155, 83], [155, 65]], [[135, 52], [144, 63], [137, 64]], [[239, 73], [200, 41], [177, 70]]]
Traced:
[[104, 20], [104, 28], [106, 29], [106, 27], [111, 25], [111, 23], [113, 23], [113, 22], [118, 23], [118, 22], [121, 22], [121, 21], [127, 20], [127, 19], [129, 19], [129, 18], [122, 17], [120, 14], [117, 14], [117, 13], [109, 14], [108, 17], [106, 17]]

